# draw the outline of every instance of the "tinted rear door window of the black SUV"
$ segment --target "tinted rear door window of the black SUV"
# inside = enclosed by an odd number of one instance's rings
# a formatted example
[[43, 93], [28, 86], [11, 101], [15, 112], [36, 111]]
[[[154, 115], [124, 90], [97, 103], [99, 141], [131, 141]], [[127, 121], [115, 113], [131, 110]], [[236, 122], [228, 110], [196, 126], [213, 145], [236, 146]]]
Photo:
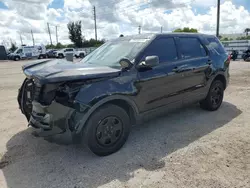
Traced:
[[206, 50], [197, 38], [180, 38], [180, 50], [181, 57], [184, 59], [207, 55]]

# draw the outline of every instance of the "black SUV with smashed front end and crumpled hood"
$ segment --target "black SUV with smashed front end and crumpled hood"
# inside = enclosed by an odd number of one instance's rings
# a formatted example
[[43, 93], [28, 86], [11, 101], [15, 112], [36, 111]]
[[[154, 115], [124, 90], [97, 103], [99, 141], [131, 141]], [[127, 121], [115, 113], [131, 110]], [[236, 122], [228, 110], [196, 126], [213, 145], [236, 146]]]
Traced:
[[43, 60], [24, 65], [27, 78], [18, 102], [39, 135], [70, 131], [104, 156], [118, 151], [131, 125], [141, 120], [196, 102], [217, 110], [228, 84], [229, 63], [211, 35], [120, 37], [80, 63]]

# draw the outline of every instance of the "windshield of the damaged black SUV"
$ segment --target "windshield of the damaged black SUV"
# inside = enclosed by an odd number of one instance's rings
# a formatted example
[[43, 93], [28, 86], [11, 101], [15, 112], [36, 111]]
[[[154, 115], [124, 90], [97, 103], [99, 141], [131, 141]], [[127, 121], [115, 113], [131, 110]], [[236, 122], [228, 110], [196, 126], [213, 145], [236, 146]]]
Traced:
[[81, 62], [119, 68], [119, 61], [122, 58], [128, 58], [133, 62], [138, 52], [142, 50], [147, 41], [148, 39], [131, 39], [107, 42], [86, 56]]

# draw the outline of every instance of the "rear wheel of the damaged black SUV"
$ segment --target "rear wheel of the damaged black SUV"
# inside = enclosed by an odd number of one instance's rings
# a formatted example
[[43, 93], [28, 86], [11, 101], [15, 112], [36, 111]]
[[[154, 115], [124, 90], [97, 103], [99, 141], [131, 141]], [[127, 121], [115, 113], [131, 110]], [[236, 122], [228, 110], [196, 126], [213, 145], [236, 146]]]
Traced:
[[222, 81], [215, 80], [211, 84], [207, 97], [200, 102], [201, 108], [208, 111], [218, 110], [223, 102], [224, 90]]

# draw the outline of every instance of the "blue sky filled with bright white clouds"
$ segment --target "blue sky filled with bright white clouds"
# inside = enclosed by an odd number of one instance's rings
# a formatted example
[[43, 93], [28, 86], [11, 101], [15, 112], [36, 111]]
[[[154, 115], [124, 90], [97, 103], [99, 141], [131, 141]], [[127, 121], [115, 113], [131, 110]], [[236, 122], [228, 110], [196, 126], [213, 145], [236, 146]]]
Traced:
[[[47, 22], [52, 40], [70, 43], [67, 23], [82, 21], [85, 38], [94, 38], [93, 6], [96, 7], [99, 39], [120, 34], [164, 32], [176, 28], [194, 27], [199, 32], [215, 34], [217, 0], [0, 0], [0, 43], [11, 40], [20, 45], [32, 44], [31, 29], [36, 44], [48, 44]], [[248, 2], [248, 3], [247, 3]], [[221, 33], [242, 33], [250, 28], [249, 0], [221, 0]]]

